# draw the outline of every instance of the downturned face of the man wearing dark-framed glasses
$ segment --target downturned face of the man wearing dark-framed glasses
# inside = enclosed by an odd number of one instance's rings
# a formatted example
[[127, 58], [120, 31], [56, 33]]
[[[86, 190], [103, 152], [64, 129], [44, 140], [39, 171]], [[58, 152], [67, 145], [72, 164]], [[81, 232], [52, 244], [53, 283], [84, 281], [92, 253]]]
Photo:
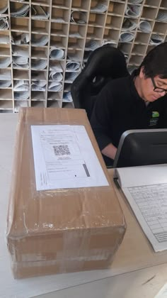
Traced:
[[[149, 102], [156, 101], [161, 96], [166, 95], [166, 92], [163, 90], [161, 91], [161, 88], [167, 90], [167, 79], [161, 79], [159, 75], [156, 75], [156, 77], [154, 77], [153, 79], [151, 79], [150, 77], [145, 79], [142, 69], [139, 73], [139, 78], [140, 78], [140, 90], [141, 90], [142, 98], [145, 101], [149, 101]], [[161, 92], [154, 91], [155, 87], [160, 88], [160, 90], [159, 89], [158, 90]]]

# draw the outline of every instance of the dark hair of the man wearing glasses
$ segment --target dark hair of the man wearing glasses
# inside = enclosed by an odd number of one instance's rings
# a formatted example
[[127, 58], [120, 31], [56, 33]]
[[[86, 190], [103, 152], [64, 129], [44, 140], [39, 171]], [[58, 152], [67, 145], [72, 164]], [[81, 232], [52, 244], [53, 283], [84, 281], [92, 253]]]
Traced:
[[136, 75], [139, 75], [142, 67], [145, 78], [159, 75], [161, 79], [167, 79], [167, 43], [161, 43], [149, 51], [137, 69]]

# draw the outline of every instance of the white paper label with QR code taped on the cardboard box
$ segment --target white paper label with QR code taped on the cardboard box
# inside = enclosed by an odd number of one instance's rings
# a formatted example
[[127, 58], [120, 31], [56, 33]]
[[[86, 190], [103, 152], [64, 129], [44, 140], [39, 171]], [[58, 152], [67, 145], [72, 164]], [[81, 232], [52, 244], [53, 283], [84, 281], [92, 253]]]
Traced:
[[84, 126], [31, 126], [37, 190], [107, 186]]

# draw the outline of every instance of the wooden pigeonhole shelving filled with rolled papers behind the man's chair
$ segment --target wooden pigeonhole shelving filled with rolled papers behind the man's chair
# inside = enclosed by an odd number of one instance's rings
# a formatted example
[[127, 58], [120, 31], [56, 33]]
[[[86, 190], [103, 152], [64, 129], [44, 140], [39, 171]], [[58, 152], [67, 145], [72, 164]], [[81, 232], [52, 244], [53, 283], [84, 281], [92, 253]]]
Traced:
[[[167, 14], [167, 0], [138, 2], [139, 15], [130, 17], [130, 0], [1, 0], [7, 25], [0, 29], [0, 112], [73, 107], [71, 84], [91, 51], [105, 43], [122, 50], [132, 71], [154, 47], [151, 38], [158, 34], [164, 41], [167, 33], [167, 22], [157, 19]], [[106, 9], [98, 11], [98, 4]], [[125, 31], [125, 21], [135, 28]], [[149, 32], [141, 21], [149, 22]], [[122, 33], [131, 40], [121, 40]]]

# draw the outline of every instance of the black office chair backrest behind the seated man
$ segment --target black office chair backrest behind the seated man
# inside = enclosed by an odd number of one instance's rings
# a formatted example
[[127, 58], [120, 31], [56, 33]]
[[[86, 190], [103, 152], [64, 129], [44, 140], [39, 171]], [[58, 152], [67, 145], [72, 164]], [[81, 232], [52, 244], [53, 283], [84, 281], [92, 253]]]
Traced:
[[125, 56], [110, 44], [94, 50], [88, 57], [84, 70], [76, 77], [71, 85], [71, 96], [76, 109], [86, 109], [88, 118], [96, 95], [110, 81], [129, 75]]

